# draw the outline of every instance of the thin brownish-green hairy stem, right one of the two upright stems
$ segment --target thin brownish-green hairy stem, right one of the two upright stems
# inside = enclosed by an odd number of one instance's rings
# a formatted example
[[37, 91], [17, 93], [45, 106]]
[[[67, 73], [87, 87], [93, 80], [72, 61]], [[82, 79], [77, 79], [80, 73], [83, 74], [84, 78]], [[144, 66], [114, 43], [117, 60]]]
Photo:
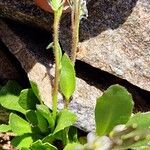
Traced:
[[74, 6], [72, 8], [71, 22], [72, 22], [72, 50], [71, 60], [73, 64], [76, 60], [76, 53], [79, 43], [79, 24], [80, 24], [80, 0], [74, 0]]

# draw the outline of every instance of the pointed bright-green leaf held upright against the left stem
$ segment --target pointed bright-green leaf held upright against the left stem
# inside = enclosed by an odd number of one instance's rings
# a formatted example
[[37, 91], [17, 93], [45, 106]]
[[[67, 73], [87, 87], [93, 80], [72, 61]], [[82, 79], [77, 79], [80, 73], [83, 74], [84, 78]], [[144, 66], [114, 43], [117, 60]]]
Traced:
[[76, 86], [76, 77], [74, 66], [67, 56], [63, 55], [62, 58], [62, 68], [60, 74], [60, 89], [66, 100], [69, 100], [73, 92], [75, 91]]

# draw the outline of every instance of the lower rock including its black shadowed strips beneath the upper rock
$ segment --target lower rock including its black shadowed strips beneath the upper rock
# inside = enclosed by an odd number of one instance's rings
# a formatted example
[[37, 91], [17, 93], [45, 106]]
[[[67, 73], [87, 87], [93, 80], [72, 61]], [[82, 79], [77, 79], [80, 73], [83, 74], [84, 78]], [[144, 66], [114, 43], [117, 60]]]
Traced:
[[[40, 36], [38, 36], [40, 35]], [[53, 55], [45, 47], [52, 40], [50, 34], [10, 20], [0, 20], [0, 36], [9, 51], [19, 60], [40, 89], [42, 99], [51, 107], [51, 81], [54, 67]], [[82, 61], [76, 62], [77, 88], [70, 103], [70, 109], [78, 115], [77, 126], [86, 131], [94, 129], [94, 107], [96, 98], [112, 84], [125, 86], [132, 93], [135, 111], [148, 111], [150, 93], [133, 86], [121, 78], [101, 71]], [[59, 95], [59, 109], [63, 101]]]

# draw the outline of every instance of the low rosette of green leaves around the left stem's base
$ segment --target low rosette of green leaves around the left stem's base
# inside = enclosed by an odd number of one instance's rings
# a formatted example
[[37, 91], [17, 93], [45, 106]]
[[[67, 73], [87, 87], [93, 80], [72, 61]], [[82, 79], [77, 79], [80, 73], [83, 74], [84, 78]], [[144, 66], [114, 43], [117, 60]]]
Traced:
[[[10, 94], [11, 88], [7, 86], [2, 88], [5, 89], [3, 97]], [[21, 89], [19, 89], [15, 98], [18, 105], [17, 108], [21, 110], [24, 108], [24, 112], [17, 114], [18, 109], [15, 109], [16, 106], [11, 106], [9, 109], [16, 111], [10, 114], [9, 124], [0, 125], [0, 132], [10, 131], [16, 135], [11, 141], [16, 148], [30, 150], [37, 149], [39, 146], [41, 149], [53, 150], [56, 149], [52, 145], [55, 140], [61, 140], [64, 146], [69, 142], [68, 138], [73, 140], [73, 135], [69, 133], [70, 136], [68, 136], [69, 127], [76, 122], [76, 116], [73, 113], [68, 110], [62, 110], [57, 114], [57, 119], [54, 120], [51, 110], [46, 105], [38, 104], [39, 101], [32, 89], [20, 91]], [[14, 96], [15, 94], [16, 91], [11, 92], [11, 95]], [[41, 140], [39, 141], [38, 139]], [[37, 140], [38, 142], [36, 142]]]

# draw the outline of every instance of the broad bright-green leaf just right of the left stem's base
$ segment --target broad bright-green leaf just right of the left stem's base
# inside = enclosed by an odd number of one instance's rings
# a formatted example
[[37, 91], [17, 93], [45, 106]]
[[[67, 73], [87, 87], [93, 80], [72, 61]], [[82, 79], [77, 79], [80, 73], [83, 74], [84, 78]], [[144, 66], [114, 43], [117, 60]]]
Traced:
[[72, 126], [77, 121], [77, 117], [74, 113], [64, 109], [58, 114], [57, 125], [53, 134], [64, 130], [67, 127]]

